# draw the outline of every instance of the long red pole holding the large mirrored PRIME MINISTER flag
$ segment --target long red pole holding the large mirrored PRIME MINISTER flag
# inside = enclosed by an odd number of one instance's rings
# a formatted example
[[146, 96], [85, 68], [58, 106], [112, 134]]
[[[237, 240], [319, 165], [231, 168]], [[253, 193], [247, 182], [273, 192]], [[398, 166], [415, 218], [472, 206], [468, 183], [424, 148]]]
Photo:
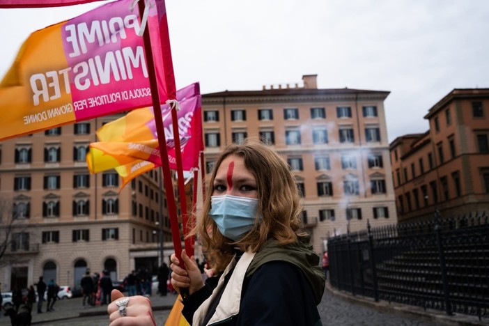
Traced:
[[[142, 19], [142, 15], [144, 12], [144, 1], [139, 1], [138, 8], [139, 8], [139, 15]], [[158, 93], [158, 86], [157, 86], [156, 74], [155, 74], [155, 63], [153, 61], [153, 49], [151, 49], [151, 40], [150, 40], [148, 28], [144, 29], [143, 40], [144, 40], [146, 64], [148, 65], [148, 77], [150, 80], [151, 100], [153, 101], [153, 112], [155, 114], [155, 124], [157, 130], [158, 144], [160, 146], [160, 155], [162, 159], [163, 181], [166, 190], [166, 201], [168, 203], [168, 212], [170, 217], [171, 238], [173, 239], [173, 247], [175, 248], [175, 254], [178, 258], [178, 261], [180, 261], [180, 267], [185, 269], [185, 264], [183, 263], [181, 258], [182, 242], [180, 240], [180, 230], [178, 228], [178, 217], [176, 212], [175, 196], [173, 194], [173, 184], [171, 183], [170, 164], [168, 162], [168, 150], [166, 149], [166, 137], [164, 135], [164, 125], [163, 125], [163, 116], [162, 116], [161, 104], [160, 104], [160, 94]], [[165, 54], [165, 51], [163, 51], [163, 53]], [[174, 84], [175, 83], [173, 81], [173, 85]], [[173, 99], [174, 98], [176, 98], [176, 96], [174, 96]]]

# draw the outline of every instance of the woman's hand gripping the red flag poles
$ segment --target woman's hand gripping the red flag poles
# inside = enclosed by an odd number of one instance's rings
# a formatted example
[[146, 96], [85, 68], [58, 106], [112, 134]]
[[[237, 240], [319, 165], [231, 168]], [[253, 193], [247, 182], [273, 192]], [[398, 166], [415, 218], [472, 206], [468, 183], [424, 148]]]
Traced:
[[194, 256], [189, 257], [185, 250], [182, 250], [182, 260], [185, 264], [185, 270], [180, 267], [180, 261], [176, 254], [172, 254], [171, 260], [171, 285], [180, 293], [180, 288], [189, 288], [189, 295], [195, 293], [205, 286], [199, 266]]

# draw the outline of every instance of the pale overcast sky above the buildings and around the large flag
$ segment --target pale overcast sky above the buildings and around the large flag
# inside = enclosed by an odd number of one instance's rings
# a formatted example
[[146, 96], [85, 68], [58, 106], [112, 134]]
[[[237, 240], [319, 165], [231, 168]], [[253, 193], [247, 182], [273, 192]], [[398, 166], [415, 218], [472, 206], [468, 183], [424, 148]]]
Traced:
[[[103, 2], [0, 10], [0, 75], [30, 33]], [[389, 141], [425, 132], [453, 88], [489, 87], [487, 0], [166, 0], [178, 88], [267, 84], [390, 91]], [[49, 54], [47, 54], [49, 55]]]

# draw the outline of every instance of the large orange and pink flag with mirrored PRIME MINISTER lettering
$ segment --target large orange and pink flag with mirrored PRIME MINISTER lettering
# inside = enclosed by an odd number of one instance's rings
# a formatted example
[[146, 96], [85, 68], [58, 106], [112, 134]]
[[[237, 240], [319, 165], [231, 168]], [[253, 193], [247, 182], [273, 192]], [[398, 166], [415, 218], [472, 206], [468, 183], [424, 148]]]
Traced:
[[[131, 3], [107, 3], [27, 38], [0, 82], [0, 140], [153, 105], [141, 19]], [[150, 3], [146, 28], [165, 102], [176, 97], [171, 56], [162, 56], [170, 46], [160, 43], [169, 42], [166, 11], [163, 0]]]

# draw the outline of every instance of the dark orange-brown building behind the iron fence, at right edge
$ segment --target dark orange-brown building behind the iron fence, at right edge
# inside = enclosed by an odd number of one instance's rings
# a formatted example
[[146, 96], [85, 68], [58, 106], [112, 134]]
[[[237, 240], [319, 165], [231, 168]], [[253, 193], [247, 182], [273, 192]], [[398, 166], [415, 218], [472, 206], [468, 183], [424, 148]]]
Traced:
[[489, 88], [453, 89], [390, 144], [399, 222], [489, 210]]

